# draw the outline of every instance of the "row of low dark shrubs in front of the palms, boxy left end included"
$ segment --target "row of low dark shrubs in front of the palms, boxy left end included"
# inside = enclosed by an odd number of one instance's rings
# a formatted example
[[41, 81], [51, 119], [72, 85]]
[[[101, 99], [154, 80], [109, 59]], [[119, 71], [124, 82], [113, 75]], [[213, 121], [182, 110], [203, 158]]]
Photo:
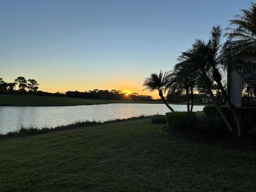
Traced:
[[205, 115], [195, 112], [166, 113], [167, 125], [172, 132], [195, 134], [198, 137], [219, 138], [229, 133], [226, 125]]

